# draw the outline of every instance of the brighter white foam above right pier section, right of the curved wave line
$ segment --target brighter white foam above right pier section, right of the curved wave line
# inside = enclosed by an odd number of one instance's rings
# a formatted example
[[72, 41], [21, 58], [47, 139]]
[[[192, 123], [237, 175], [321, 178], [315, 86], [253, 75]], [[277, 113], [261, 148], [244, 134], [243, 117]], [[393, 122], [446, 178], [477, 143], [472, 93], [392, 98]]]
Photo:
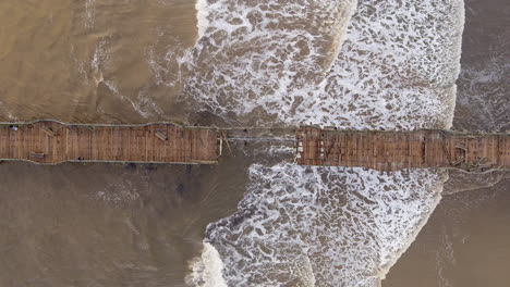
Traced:
[[342, 128], [449, 128], [462, 28], [462, 1], [360, 2], [329, 75], [318, 89], [295, 91], [305, 100], [282, 117]]

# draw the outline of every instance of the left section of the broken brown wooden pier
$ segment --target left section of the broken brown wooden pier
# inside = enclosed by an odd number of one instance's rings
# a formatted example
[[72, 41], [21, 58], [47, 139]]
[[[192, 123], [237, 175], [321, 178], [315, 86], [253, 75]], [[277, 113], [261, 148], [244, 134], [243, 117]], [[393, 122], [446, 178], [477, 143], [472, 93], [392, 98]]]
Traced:
[[172, 124], [0, 124], [0, 160], [211, 164], [221, 152], [218, 135], [214, 129]]

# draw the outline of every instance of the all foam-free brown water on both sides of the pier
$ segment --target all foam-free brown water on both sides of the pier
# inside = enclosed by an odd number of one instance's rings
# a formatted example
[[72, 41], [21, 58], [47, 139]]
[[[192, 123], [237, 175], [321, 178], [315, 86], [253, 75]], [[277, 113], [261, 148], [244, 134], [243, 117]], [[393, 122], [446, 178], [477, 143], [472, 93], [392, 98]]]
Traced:
[[[507, 2], [466, 1], [454, 128], [508, 130]], [[0, 121], [210, 120], [180, 62], [198, 37], [193, 1], [0, 0]], [[267, 146], [241, 141], [218, 166], [1, 163], [0, 286], [186, 286], [206, 226], [236, 210]], [[508, 286], [509, 186], [447, 185], [382, 286]]]

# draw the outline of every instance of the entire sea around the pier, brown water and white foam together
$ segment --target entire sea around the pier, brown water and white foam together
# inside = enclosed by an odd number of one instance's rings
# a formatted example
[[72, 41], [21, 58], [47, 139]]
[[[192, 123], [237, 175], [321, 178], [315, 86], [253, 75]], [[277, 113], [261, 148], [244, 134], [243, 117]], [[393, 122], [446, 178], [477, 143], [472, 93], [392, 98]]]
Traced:
[[[0, 118], [505, 132], [509, 11], [503, 0], [0, 1]], [[490, 248], [489, 236], [462, 248], [470, 230], [510, 238], [501, 221], [459, 215], [486, 202], [506, 219], [490, 195], [505, 174], [304, 167], [289, 142], [231, 145], [219, 166], [0, 164], [0, 285], [476, 286], [452, 279]], [[483, 274], [508, 261], [486, 258]]]

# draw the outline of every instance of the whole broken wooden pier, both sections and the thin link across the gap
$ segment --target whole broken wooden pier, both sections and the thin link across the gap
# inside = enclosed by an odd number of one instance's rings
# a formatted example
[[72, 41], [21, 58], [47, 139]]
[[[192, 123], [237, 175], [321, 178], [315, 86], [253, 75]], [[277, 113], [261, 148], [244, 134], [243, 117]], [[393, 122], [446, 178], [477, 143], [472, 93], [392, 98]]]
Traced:
[[[156, 162], [214, 164], [229, 140], [286, 140], [291, 128], [268, 135], [247, 129], [147, 125], [81, 125], [54, 121], [0, 124], [0, 161]], [[263, 136], [260, 136], [263, 135]], [[287, 136], [286, 136], [287, 135]], [[510, 170], [509, 134], [445, 130], [360, 132], [302, 127], [295, 130], [296, 163], [363, 166]]]

